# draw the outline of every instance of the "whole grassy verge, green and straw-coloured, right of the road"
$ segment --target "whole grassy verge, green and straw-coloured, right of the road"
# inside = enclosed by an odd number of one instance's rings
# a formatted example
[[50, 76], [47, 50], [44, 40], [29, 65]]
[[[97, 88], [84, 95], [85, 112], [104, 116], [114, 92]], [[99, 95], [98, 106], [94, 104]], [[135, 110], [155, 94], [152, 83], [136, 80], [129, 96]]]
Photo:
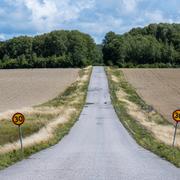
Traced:
[[116, 113], [137, 143], [180, 167], [180, 134], [173, 148], [173, 125], [138, 96], [120, 69], [106, 68], [106, 74]]

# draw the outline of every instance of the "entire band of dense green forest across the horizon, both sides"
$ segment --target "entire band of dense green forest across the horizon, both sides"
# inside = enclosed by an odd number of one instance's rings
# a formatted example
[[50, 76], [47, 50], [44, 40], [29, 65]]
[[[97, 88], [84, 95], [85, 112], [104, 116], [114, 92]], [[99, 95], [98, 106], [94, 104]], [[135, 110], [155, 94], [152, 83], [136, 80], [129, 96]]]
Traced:
[[150, 24], [123, 35], [109, 32], [103, 44], [79, 31], [53, 31], [0, 42], [0, 68], [87, 65], [180, 67], [180, 24]]

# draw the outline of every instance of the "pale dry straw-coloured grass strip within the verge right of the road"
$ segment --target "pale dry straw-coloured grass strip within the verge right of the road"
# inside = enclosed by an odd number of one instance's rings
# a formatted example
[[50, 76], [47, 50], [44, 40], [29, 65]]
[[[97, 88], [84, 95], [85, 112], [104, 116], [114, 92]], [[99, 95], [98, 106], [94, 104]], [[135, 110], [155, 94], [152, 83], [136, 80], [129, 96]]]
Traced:
[[[128, 70], [126, 70], [128, 71]], [[133, 70], [130, 70], [133, 71]], [[113, 76], [111, 76], [113, 80]], [[116, 77], [117, 79], [117, 77]], [[118, 83], [118, 81], [116, 81]], [[140, 83], [140, 82], [139, 82]], [[159, 124], [157, 118], [162, 118], [154, 110], [147, 112], [143, 111], [141, 107], [128, 99], [128, 94], [119, 89], [116, 92], [118, 100], [123, 102], [126, 106], [128, 114], [146, 129], [154, 134], [154, 136], [165, 144], [172, 145], [172, 137], [174, 128], [170, 124]], [[176, 139], [180, 139], [180, 133], [177, 133]], [[180, 141], [176, 141], [176, 146], [180, 147]]]

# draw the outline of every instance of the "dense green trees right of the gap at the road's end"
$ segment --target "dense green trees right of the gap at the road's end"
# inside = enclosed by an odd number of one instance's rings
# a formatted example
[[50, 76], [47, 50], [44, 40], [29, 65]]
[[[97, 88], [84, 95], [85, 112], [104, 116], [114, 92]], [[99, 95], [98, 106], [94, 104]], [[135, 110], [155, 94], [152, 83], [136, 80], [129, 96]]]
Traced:
[[106, 65], [119, 67], [180, 66], [180, 24], [150, 24], [123, 35], [109, 32], [103, 41]]

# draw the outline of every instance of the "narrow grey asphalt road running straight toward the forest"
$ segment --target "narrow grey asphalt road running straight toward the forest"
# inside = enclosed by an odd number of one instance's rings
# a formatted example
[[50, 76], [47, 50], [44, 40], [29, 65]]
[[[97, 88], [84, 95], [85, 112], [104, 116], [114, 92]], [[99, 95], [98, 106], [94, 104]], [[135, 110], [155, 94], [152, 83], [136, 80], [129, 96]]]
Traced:
[[0, 171], [0, 180], [180, 180], [180, 169], [136, 144], [111, 105], [103, 67], [94, 67], [70, 134]]

